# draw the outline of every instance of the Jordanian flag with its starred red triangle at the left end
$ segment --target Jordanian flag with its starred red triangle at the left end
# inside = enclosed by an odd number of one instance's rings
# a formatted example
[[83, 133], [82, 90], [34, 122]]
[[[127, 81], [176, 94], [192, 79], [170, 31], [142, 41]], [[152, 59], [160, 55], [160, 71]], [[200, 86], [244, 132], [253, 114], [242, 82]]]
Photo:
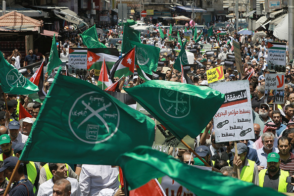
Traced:
[[102, 49], [88, 49], [88, 60], [87, 69], [101, 69], [104, 60], [110, 70], [114, 63], [118, 60], [119, 51], [112, 48], [102, 48]]

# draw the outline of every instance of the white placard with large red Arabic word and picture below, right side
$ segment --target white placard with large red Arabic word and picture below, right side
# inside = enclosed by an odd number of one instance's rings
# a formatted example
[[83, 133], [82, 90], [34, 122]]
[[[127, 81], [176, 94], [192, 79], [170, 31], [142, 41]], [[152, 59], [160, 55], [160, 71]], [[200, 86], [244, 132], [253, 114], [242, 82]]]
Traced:
[[267, 103], [284, 103], [284, 74], [265, 74], [264, 100]]

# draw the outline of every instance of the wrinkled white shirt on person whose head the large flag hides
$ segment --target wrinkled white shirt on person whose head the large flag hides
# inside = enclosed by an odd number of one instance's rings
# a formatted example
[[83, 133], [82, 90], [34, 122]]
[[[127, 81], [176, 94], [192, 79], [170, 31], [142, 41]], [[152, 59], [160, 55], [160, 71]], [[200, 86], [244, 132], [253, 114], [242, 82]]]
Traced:
[[80, 174], [81, 196], [98, 196], [102, 189], [119, 188], [118, 168], [110, 165], [82, 165]]

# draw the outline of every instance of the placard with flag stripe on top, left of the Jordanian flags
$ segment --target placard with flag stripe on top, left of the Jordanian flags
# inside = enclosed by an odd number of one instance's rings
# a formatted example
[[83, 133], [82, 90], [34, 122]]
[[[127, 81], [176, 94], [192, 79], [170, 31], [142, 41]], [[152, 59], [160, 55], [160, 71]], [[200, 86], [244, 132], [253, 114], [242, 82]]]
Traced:
[[76, 75], [87, 75], [87, 48], [69, 48], [68, 72]]

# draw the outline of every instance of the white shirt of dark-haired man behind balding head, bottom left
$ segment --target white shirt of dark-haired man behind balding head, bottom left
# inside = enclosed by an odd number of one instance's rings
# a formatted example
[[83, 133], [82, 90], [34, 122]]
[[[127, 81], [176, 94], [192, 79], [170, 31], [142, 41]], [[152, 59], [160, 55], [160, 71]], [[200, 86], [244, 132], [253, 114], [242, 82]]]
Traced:
[[[81, 196], [81, 189], [77, 179], [66, 178], [71, 184], [71, 194], [70, 196]], [[42, 185], [40, 185], [37, 196], [52, 196], [53, 195], [53, 180], [52, 178]]]

